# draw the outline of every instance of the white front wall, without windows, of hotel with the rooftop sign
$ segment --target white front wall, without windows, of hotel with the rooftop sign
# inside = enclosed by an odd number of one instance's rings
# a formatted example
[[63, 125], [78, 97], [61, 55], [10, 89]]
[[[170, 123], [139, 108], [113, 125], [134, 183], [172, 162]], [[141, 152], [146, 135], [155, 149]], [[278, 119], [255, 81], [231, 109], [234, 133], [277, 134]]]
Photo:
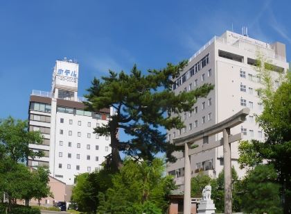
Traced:
[[[64, 120], [64, 123], [60, 123], [61, 118]], [[69, 120], [72, 120], [73, 124], [69, 124]], [[78, 125], [78, 121], [81, 122], [80, 126]], [[88, 123], [91, 124], [91, 127], [88, 127]], [[53, 167], [55, 168], [54, 176], [57, 176], [61, 181], [67, 184], [73, 184], [75, 175], [84, 172], [93, 172], [105, 161], [105, 156], [110, 154], [109, 138], [105, 140], [105, 136], [99, 136], [96, 139], [96, 134], [93, 133], [97, 123], [102, 125], [107, 124], [107, 121], [96, 120], [92, 117], [81, 115], [57, 113], [55, 126], [55, 163]], [[60, 130], [63, 131], [63, 134], [60, 134]], [[72, 132], [72, 135], [69, 135], [69, 131]], [[81, 133], [80, 137], [78, 137], [78, 132]], [[90, 138], [88, 138], [87, 134], [91, 135]], [[60, 145], [60, 141], [62, 141], [62, 146]], [[69, 142], [71, 142], [71, 147], [69, 147]], [[78, 143], [80, 143], [80, 148], [77, 147]], [[87, 145], [89, 145], [89, 149], [87, 149]], [[98, 150], [96, 150], [96, 146], [98, 146]], [[108, 148], [107, 151], [105, 151], [105, 147]], [[62, 157], [59, 156], [60, 152], [62, 152]], [[68, 154], [71, 154], [71, 158], [68, 157]], [[80, 155], [80, 159], [77, 158], [77, 154]], [[90, 156], [90, 160], [87, 160], [87, 156]], [[98, 161], [95, 159], [96, 156], [98, 156]], [[59, 168], [59, 164], [62, 164], [62, 168]], [[68, 169], [68, 165], [70, 169]], [[80, 170], [76, 169], [77, 165], [80, 166]], [[88, 170], [88, 167], [91, 167], [91, 170]]]

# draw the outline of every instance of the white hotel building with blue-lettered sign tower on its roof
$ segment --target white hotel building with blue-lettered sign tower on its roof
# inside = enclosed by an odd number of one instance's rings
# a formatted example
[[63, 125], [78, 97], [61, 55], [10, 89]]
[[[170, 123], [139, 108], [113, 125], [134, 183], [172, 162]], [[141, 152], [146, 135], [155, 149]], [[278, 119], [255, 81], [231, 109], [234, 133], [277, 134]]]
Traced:
[[78, 97], [78, 74], [78, 63], [57, 60], [51, 92], [33, 90], [28, 110], [29, 130], [44, 135], [42, 145], [29, 145], [44, 157], [28, 157], [28, 166], [48, 165], [51, 176], [67, 185], [77, 174], [96, 170], [111, 153], [109, 137], [94, 133], [96, 126], [107, 124], [110, 110], [85, 110], [85, 99]]

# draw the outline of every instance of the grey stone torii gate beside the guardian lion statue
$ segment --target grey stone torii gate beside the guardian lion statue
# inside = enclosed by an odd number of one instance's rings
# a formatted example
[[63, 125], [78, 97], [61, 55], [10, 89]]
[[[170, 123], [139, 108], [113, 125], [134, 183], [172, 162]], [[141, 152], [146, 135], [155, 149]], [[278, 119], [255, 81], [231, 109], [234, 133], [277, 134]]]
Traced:
[[[224, 160], [224, 213], [230, 214], [232, 211], [232, 194], [231, 194], [231, 142], [236, 142], [242, 139], [242, 133], [231, 135], [230, 129], [238, 124], [245, 122], [245, 117], [249, 115], [249, 108], [243, 108], [235, 115], [227, 118], [218, 124], [210, 126], [209, 128], [197, 131], [188, 136], [182, 138], [174, 138], [173, 142], [177, 146], [184, 146], [184, 214], [191, 214], [191, 165], [190, 156], [200, 153], [201, 151], [214, 149], [223, 145], [223, 160]], [[196, 147], [195, 142], [197, 140], [205, 139], [208, 142], [208, 138], [211, 135], [223, 132], [223, 138], [213, 143], [207, 143], [202, 147]], [[189, 151], [190, 147], [190, 151]]]

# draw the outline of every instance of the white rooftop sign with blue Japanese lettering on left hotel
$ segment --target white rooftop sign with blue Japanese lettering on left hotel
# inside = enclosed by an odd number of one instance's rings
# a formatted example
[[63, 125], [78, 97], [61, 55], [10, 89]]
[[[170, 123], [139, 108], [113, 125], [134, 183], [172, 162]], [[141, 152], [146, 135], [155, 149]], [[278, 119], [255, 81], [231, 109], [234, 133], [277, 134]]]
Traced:
[[77, 63], [57, 60], [53, 71], [52, 87], [55, 88], [56, 86], [60, 85], [77, 91], [78, 74], [79, 65]]

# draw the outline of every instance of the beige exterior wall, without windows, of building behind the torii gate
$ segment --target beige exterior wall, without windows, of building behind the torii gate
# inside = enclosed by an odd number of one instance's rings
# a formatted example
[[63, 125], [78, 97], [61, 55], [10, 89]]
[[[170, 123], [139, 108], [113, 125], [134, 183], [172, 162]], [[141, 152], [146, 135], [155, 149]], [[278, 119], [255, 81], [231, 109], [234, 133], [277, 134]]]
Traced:
[[[212, 42], [212, 43], [211, 43]], [[174, 92], [177, 94], [182, 92], [184, 88], [188, 87], [190, 83], [193, 83], [197, 79], [197, 87], [201, 86], [203, 83], [213, 83], [215, 85], [214, 90], [212, 90], [208, 97], [200, 98], [197, 100], [195, 106], [198, 107], [197, 114], [193, 114], [192, 117], [187, 117], [184, 120], [184, 124], [188, 127], [189, 123], [198, 121], [197, 128], [193, 128], [192, 131], [182, 133], [177, 135], [177, 130], [170, 130], [168, 135], [173, 136], [173, 132], [176, 132], [176, 138], [180, 138], [185, 135], [200, 131], [206, 127], [212, 126], [215, 123], [221, 122], [227, 119], [231, 115], [237, 113], [239, 110], [245, 107], [249, 107], [251, 112], [247, 117], [247, 121], [231, 129], [232, 134], [240, 133], [246, 130], [243, 139], [258, 139], [263, 140], [263, 134], [261, 135], [258, 125], [255, 122], [254, 114], [259, 114], [263, 110], [260, 107], [260, 100], [258, 99], [258, 94], [256, 89], [261, 88], [261, 83], [255, 78], [256, 70], [252, 65], [247, 63], [247, 58], [256, 59], [257, 52], [260, 51], [261, 54], [272, 64], [282, 67], [284, 72], [288, 69], [288, 63], [285, 61], [284, 44], [267, 44], [252, 38], [247, 38], [243, 35], [233, 33], [230, 31], [225, 32], [220, 38], [212, 39], [206, 46], [202, 47], [202, 50], [195, 53], [195, 56], [191, 58], [188, 66], [184, 69], [181, 76], [188, 71], [195, 63], [197, 63], [201, 58], [203, 58], [207, 53], [209, 53], [209, 64], [202, 68], [197, 74], [191, 76], [185, 83], [176, 88]], [[243, 60], [240, 62], [236, 60], [231, 60], [229, 58], [223, 58], [219, 56], [219, 51], [226, 51], [228, 53], [233, 53], [236, 56], [242, 56]], [[207, 71], [211, 69], [211, 76], [207, 76]], [[240, 76], [240, 71], [245, 72], [245, 78]], [[206, 81], [202, 82], [201, 76], [206, 74]], [[252, 80], [249, 78], [249, 74], [254, 77]], [[276, 72], [272, 72], [274, 79], [278, 77]], [[245, 85], [246, 91], [240, 90], [240, 85]], [[249, 88], [252, 88], [250, 90]], [[193, 87], [195, 89], [195, 87]], [[251, 93], [252, 92], [252, 93]], [[212, 105], [208, 106], [206, 103], [206, 108], [202, 110], [202, 102], [207, 101], [211, 97]], [[240, 105], [240, 99], [246, 100], [246, 106]], [[252, 103], [250, 103], [252, 102]], [[251, 106], [252, 104], [252, 106]], [[194, 107], [195, 107], [194, 106]], [[201, 124], [203, 116], [207, 117], [207, 114], [211, 113], [212, 120]], [[183, 118], [184, 113], [181, 114]], [[207, 118], [206, 118], [207, 119]], [[251, 133], [252, 131], [252, 133]], [[220, 140], [222, 138], [222, 133], [209, 138], [209, 143], [214, 140]], [[171, 140], [171, 139], [170, 139]], [[198, 141], [198, 145], [202, 145], [202, 141]], [[184, 167], [184, 158], [182, 152], [175, 152], [174, 155], [177, 157], [177, 162], [167, 165], [167, 172], [173, 172], [173, 170], [181, 169]], [[245, 174], [245, 170], [240, 170], [238, 167], [238, 142], [233, 142], [231, 144], [231, 165], [236, 168], [238, 176], [242, 177]], [[191, 169], [192, 176], [195, 176], [197, 172], [197, 163], [202, 163], [203, 161], [212, 160], [212, 170], [204, 171], [205, 174], [209, 176], [217, 177], [218, 174], [223, 169], [223, 148], [217, 147], [209, 151], [203, 151], [200, 154], [195, 154], [191, 156]], [[180, 174], [175, 177], [177, 186], [180, 190], [184, 190], [184, 174]]]

